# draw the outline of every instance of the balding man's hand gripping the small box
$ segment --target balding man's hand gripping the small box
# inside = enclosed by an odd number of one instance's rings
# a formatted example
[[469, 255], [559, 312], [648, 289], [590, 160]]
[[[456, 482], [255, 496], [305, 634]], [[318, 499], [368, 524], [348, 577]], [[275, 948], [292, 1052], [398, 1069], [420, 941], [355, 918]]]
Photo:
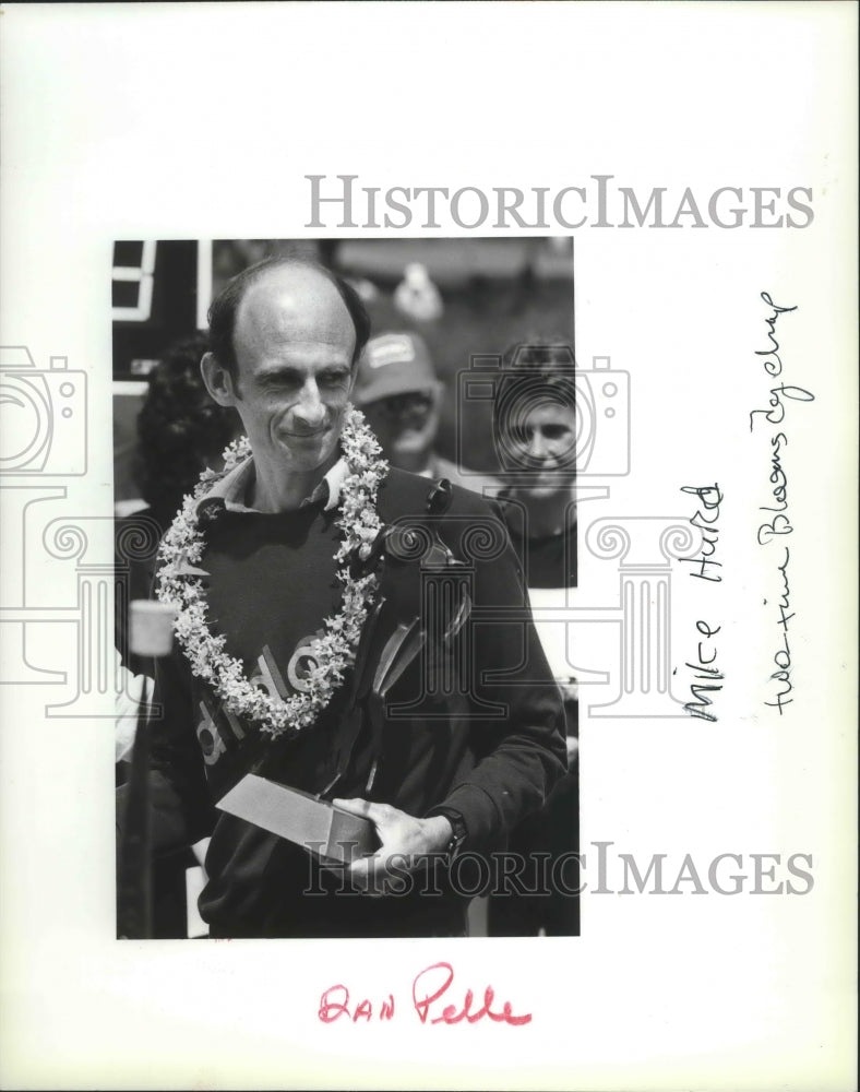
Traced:
[[453, 834], [444, 816], [416, 819], [391, 804], [370, 800], [332, 800], [335, 807], [370, 819], [382, 843], [375, 853], [359, 857], [347, 869], [353, 887], [369, 895], [396, 894], [405, 886], [406, 873], [414, 871], [421, 858], [443, 852]]

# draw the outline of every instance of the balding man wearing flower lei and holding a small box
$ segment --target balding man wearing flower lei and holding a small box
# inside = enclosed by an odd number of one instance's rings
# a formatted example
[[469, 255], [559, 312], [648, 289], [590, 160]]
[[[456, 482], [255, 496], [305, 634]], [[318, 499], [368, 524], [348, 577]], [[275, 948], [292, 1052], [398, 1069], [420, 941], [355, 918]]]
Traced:
[[[353, 289], [303, 262], [246, 271], [210, 310], [204, 380], [248, 442], [163, 543], [178, 646], [150, 793], [156, 850], [211, 835], [211, 936], [464, 935], [456, 854], [503, 847], [564, 769], [502, 525], [389, 468], [350, 405], [368, 335]], [[278, 836], [312, 798], [367, 820], [375, 851], [320, 868], [319, 842]]]

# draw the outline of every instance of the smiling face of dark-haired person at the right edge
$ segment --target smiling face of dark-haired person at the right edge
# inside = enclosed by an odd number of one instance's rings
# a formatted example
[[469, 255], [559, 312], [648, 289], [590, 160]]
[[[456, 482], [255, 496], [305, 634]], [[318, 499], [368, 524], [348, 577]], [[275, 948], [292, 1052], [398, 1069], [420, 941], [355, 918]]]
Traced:
[[572, 406], [547, 402], [512, 422], [505, 444], [517, 470], [529, 471], [519, 485], [533, 497], [569, 492], [576, 459], [576, 412]]

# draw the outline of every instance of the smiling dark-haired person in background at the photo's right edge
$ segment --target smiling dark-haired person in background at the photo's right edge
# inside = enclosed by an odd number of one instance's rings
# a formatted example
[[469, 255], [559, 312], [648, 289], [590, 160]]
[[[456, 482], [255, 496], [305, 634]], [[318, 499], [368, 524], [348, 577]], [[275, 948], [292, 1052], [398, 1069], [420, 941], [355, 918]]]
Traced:
[[[500, 462], [510, 485], [499, 502], [514, 549], [523, 566], [533, 606], [568, 603], [576, 586], [576, 389], [574, 358], [566, 344], [519, 343], [504, 355], [497, 388], [493, 425]], [[566, 627], [541, 625], [538, 636], [564, 697], [568, 773], [556, 784], [542, 810], [512, 833], [509, 850], [531, 862], [526, 875], [540, 875], [536, 855], [558, 859], [578, 852], [578, 702], [570, 677]], [[568, 858], [570, 859], [570, 858]], [[490, 936], [577, 936], [580, 902], [570, 893], [578, 886], [575, 862], [563, 870], [568, 890], [533, 894], [494, 893], [488, 904]]]

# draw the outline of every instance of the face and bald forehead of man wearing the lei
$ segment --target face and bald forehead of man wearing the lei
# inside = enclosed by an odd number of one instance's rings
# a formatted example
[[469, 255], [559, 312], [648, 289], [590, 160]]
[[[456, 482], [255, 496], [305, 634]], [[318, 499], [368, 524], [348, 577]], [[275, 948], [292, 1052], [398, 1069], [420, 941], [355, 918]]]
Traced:
[[335, 286], [307, 269], [275, 270], [236, 317], [234, 405], [260, 467], [284, 479], [335, 461], [351, 387], [355, 328]]

